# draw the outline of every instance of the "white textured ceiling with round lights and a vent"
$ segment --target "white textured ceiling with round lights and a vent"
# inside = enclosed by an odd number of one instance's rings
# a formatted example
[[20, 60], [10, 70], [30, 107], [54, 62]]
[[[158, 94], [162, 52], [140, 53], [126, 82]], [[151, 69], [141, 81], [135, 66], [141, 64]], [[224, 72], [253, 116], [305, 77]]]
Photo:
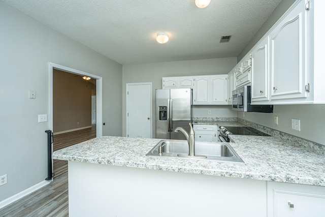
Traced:
[[[237, 56], [281, 0], [2, 0], [122, 65]], [[157, 33], [170, 36], [167, 44]], [[220, 37], [232, 35], [230, 42]]]

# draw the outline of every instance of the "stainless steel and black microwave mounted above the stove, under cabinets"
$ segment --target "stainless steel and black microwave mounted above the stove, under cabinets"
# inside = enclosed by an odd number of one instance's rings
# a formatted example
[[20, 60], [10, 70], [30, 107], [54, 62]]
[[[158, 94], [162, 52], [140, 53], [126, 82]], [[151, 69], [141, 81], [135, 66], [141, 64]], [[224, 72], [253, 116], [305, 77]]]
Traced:
[[251, 86], [233, 90], [233, 110], [273, 113], [273, 105], [251, 105]]

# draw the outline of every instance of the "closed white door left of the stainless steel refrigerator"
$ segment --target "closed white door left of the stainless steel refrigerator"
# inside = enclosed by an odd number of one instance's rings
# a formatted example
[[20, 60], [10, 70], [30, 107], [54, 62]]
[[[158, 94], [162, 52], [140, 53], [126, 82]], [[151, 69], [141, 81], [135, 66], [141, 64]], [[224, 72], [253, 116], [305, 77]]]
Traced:
[[152, 83], [126, 84], [126, 136], [152, 138]]

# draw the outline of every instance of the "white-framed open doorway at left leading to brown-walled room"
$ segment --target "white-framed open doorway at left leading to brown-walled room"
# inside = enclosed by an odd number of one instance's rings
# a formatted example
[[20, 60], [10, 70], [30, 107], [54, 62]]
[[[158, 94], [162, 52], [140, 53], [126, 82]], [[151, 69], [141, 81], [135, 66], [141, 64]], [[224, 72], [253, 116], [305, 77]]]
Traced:
[[[57, 71], [65, 73], [72, 80], [68, 83], [64, 83], [64, 80], [55, 81]], [[53, 63], [49, 63], [49, 74], [49, 127], [54, 134], [52, 151], [102, 136], [102, 77]], [[88, 79], [83, 79], [83, 76]], [[72, 82], [74, 79], [78, 83], [75, 86]], [[57, 82], [64, 83], [68, 88], [58, 88], [56, 96]], [[85, 99], [86, 95], [89, 95], [89, 100]], [[92, 96], [95, 97], [95, 121], [92, 119]], [[52, 160], [52, 168], [57, 176], [68, 170], [67, 162]]]

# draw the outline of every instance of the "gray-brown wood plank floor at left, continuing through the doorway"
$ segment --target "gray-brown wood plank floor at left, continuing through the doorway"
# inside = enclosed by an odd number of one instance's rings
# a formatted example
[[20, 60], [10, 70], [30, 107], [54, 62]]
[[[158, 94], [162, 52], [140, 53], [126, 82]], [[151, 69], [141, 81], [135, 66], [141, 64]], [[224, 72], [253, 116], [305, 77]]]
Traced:
[[[96, 137], [96, 126], [54, 135], [53, 151]], [[54, 160], [53, 181], [42, 189], [0, 209], [0, 216], [69, 216], [68, 162]]]

